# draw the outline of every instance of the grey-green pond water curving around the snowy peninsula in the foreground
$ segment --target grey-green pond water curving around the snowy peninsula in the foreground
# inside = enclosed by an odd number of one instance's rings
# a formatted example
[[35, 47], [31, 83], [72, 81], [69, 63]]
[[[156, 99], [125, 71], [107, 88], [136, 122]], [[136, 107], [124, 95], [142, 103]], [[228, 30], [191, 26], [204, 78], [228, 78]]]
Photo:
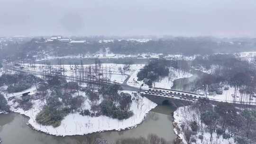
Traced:
[[173, 110], [174, 108], [169, 106], [157, 106], [136, 128], [65, 137], [47, 135], [31, 129], [26, 125], [27, 117], [22, 115], [0, 114], [0, 137], [4, 144], [93, 144], [97, 138], [115, 143], [119, 139], [140, 136], [147, 138], [149, 134], [155, 134], [166, 141], [173, 142], [175, 139], [171, 116]]

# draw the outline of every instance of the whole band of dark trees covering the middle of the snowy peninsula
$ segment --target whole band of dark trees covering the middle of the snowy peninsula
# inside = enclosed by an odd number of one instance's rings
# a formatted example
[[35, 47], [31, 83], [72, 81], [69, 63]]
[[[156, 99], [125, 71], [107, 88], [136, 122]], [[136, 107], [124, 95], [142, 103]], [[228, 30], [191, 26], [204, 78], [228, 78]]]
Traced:
[[[36, 117], [37, 123], [41, 125], [60, 126], [62, 119], [73, 112], [90, 117], [105, 115], [119, 120], [133, 115], [130, 110], [131, 95], [119, 93], [121, 87], [118, 84], [105, 85], [98, 90], [90, 87], [81, 89], [76, 82], [67, 82], [62, 77], [53, 76], [38, 85], [38, 90], [46, 100], [46, 105]], [[86, 97], [79, 95], [80, 91]], [[85, 100], [89, 101], [90, 109], [82, 108]]]

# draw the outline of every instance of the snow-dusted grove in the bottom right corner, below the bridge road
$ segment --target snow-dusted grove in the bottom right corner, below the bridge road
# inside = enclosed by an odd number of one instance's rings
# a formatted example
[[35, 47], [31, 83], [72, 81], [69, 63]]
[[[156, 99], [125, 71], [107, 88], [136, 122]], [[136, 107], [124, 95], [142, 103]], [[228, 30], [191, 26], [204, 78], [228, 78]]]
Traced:
[[[213, 105], [208, 99], [199, 99], [192, 106], [184, 107], [181, 115], [188, 117], [183, 119], [181, 125], [188, 144], [192, 144], [197, 138], [201, 142], [214, 144], [219, 136], [222, 136], [221, 141], [233, 137], [237, 144], [256, 143], [255, 109], [241, 110], [227, 102]], [[210, 134], [210, 139], [204, 136], [205, 133]], [[213, 133], [217, 137], [213, 137]]]

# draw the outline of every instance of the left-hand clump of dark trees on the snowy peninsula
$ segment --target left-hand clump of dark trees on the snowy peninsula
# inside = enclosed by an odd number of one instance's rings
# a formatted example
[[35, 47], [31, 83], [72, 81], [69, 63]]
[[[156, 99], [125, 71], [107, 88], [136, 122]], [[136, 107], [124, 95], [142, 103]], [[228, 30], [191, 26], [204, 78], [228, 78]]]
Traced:
[[59, 76], [48, 77], [46, 82], [39, 84], [38, 90], [46, 100], [46, 105], [37, 114], [36, 121], [44, 126], [60, 126], [63, 117], [76, 112], [84, 102], [84, 97], [79, 95], [78, 84], [67, 82]]

